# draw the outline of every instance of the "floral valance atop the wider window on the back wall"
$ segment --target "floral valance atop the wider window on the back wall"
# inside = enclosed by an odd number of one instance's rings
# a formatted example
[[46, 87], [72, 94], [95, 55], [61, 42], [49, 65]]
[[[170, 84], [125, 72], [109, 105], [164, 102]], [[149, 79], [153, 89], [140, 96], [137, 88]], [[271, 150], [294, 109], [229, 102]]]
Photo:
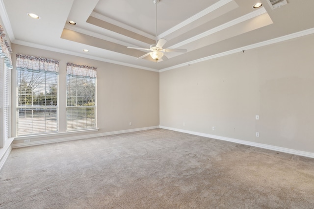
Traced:
[[59, 61], [48, 58], [17, 54], [16, 69], [28, 71], [45, 71], [47, 73], [51, 72], [58, 74]]

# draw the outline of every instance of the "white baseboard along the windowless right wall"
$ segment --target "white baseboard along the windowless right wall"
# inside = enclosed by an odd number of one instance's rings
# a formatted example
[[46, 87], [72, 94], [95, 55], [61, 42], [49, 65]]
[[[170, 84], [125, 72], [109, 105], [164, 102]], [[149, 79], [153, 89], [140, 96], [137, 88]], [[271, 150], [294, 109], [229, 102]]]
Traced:
[[238, 144], [245, 144], [245, 145], [259, 147], [259, 148], [263, 148], [263, 149], [269, 149], [269, 150], [274, 150], [274, 151], [278, 151], [278, 152], [289, 153], [289, 154], [293, 154], [293, 155], [300, 155], [300, 156], [304, 156], [304, 157], [314, 158], [314, 153], [312, 153], [312, 152], [305, 152], [305, 151], [300, 151], [300, 150], [295, 150], [295, 149], [288, 149], [285, 147], [272, 146], [272, 145], [268, 145], [268, 144], [256, 143], [256, 142], [245, 141], [245, 140], [240, 140], [240, 139], [233, 139], [233, 138], [228, 138], [228, 137], [221, 137], [221, 136], [205, 134], [205, 133], [200, 133], [200, 132], [171, 128], [171, 127], [166, 127], [166, 126], [159, 126], [159, 128], [168, 129], [168, 130], [172, 130], [172, 131], [178, 131], [178, 132], [192, 134], [192, 135], [201, 136], [201, 137], [207, 137], [207, 138], [211, 138], [211, 139], [231, 141], [231, 142], [235, 142]]

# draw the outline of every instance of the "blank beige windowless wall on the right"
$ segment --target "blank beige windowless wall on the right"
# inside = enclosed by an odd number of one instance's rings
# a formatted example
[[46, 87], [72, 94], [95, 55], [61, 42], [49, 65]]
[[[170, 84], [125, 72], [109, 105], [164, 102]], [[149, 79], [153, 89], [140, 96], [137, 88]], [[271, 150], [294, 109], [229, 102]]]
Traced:
[[313, 55], [308, 35], [161, 72], [160, 125], [314, 152]]

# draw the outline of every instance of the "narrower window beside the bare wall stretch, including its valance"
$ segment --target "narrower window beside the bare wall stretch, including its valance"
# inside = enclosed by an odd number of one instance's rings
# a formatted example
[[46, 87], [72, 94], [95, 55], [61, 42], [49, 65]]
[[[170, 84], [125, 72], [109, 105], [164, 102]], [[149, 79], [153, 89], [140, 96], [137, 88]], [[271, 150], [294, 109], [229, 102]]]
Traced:
[[97, 68], [67, 63], [67, 131], [96, 128]]

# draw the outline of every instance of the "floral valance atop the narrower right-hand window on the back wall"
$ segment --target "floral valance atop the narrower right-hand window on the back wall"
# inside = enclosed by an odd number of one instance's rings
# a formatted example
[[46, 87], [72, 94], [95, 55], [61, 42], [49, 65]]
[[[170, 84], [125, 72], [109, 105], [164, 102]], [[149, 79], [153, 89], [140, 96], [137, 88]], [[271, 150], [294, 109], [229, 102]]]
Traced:
[[96, 79], [97, 77], [97, 68], [90, 67], [85, 65], [76, 65], [73, 63], [67, 63], [67, 75], [73, 77], [83, 77]]

